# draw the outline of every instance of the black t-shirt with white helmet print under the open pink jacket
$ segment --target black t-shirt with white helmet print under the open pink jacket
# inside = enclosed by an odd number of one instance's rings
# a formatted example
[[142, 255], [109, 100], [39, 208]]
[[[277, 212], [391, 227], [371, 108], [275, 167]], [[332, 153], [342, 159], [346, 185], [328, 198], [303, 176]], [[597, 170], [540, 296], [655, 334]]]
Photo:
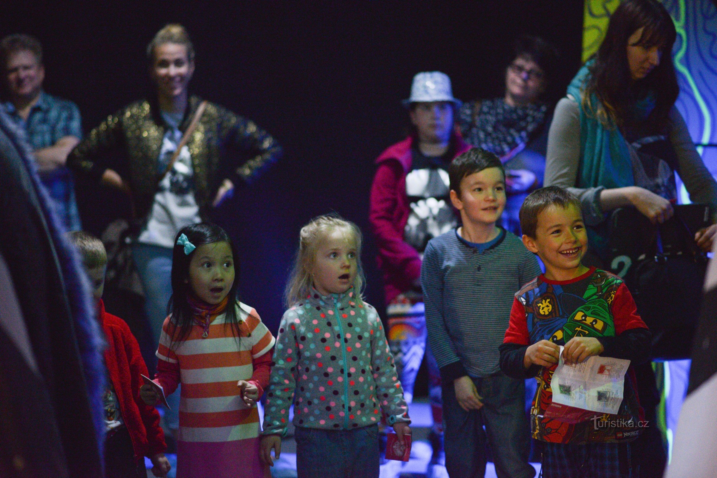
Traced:
[[411, 212], [404, 228], [404, 241], [421, 255], [431, 239], [457, 224], [448, 179], [448, 165], [454, 154], [452, 147], [442, 156], [426, 156], [418, 145], [411, 150], [411, 171], [406, 176]]

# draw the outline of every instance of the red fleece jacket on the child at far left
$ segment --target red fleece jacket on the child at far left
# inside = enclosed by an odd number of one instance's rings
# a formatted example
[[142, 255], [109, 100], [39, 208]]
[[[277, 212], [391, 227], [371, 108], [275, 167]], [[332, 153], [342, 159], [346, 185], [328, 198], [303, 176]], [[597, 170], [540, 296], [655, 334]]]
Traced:
[[102, 300], [98, 308], [108, 345], [105, 365], [117, 394], [120, 414], [132, 439], [135, 459], [139, 462], [143, 457], [152, 457], [167, 449], [164, 432], [159, 426], [159, 412], [146, 405], [139, 396], [143, 384], [140, 375], [148, 376], [147, 365], [126, 322], [105, 312]]

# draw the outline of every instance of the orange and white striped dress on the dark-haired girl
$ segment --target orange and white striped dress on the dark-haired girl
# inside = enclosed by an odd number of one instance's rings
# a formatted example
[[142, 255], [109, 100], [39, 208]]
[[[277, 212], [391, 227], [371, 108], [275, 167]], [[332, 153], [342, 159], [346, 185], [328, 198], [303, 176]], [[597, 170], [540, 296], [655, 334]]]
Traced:
[[267, 354], [275, 338], [256, 310], [241, 302], [237, 302], [238, 340], [224, 317], [210, 320], [206, 338], [204, 328], [193, 325], [181, 343], [171, 343], [171, 316], [164, 320], [156, 381], [165, 393], [172, 393], [181, 382], [177, 478], [265, 476], [259, 459], [259, 412], [256, 405], [242, 401], [237, 381], [250, 381], [260, 361], [265, 378], [255, 383], [262, 393], [271, 361]]

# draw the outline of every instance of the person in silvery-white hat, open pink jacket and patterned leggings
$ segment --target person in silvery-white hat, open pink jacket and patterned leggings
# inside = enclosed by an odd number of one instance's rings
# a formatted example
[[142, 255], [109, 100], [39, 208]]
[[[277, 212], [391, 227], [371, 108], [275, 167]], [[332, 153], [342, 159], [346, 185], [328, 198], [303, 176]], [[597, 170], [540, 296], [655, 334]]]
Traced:
[[434, 466], [442, 449], [441, 386], [438, 365], [430, 350], [426, 351], [421, 262], [428, 241], [456, 225], [447, 168], [469, 146], [455, 128], [461, 103], [453, 97], [445, 73], [416, 75], [411, 97], [402, 103], [409, 110], [411, 133], [376, 160], [379, 166], [371, 186], [369, 220], [384, 274], [389, 345], [409, 403], [427, 353]]

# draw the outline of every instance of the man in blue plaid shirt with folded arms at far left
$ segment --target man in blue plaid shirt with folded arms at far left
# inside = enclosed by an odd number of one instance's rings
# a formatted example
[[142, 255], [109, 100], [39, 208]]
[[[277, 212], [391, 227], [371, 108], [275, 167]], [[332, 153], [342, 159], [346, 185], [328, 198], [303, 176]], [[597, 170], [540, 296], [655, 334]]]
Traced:
[[80, 110], [42, 90], [42, 45], [34, 37], [13, 34], [2, 39], [0, 61], [9, 100], [2, 107], [27, 135], [57, 218], [70, 231], [82, 229], [72, 173], [65, 168], [67, 155], [82, 138]]

